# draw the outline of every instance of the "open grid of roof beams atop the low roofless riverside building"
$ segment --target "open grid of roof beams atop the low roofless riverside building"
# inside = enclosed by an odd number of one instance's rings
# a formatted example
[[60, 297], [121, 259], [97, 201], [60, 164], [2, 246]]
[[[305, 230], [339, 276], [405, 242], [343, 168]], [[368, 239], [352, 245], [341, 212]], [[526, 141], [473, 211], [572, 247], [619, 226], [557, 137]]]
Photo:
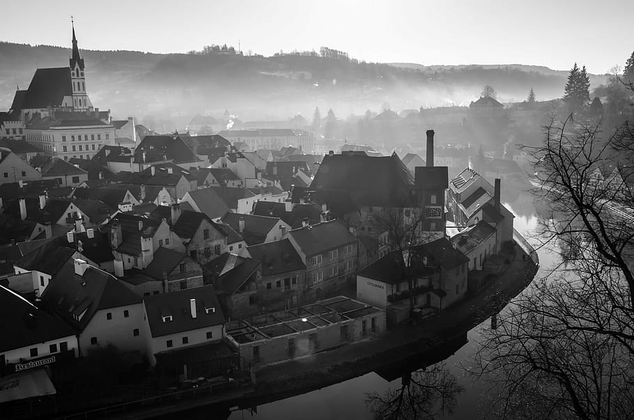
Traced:
[[326, 327], [380, 311], [350, 297], [338, 296], [286, 311], [233, 320], [227, 322], [225, 330], [235, 341], [244, 344]]

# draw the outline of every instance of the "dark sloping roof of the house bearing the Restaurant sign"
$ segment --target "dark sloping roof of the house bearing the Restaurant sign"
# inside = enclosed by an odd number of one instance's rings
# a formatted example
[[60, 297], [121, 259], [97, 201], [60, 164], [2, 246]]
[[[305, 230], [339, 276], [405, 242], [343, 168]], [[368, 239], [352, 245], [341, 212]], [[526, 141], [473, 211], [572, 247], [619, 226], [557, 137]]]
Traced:
[[0, 286], [0, 352], [75, 336], [63, 321], [41, 311], [24, 297]]

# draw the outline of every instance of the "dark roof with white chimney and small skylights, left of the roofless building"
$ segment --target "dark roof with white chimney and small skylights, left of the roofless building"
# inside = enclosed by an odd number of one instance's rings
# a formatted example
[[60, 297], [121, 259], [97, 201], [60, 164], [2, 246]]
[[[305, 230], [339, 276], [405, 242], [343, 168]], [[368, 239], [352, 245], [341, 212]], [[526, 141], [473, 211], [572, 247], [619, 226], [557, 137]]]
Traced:
[[[190, 300], [196, 300], [196, 318], [192, 318]], [[148, 324], [153, 337], [222, 325], [222, 309], [213, 286], [202, 286], [144, 297]], [[171, 321], [163, 322], [164, 316]]]

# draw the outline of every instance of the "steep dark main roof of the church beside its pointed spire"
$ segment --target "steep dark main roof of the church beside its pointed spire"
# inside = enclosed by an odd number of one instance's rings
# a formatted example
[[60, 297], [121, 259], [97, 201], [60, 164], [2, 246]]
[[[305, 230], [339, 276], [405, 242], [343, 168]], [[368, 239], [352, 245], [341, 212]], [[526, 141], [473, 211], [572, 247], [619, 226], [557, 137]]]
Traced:
[[38, 68], [31, 79], [21, 108], [59, 107], [65, 96], [72, 96], [70, 68]]

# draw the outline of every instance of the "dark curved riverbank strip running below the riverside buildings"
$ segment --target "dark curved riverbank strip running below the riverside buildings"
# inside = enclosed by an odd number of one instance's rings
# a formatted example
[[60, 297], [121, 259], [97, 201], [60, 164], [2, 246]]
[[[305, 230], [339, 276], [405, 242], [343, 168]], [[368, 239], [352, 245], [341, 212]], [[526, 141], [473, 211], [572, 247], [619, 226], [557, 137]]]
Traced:
[[525, 241], [517, 242], [516, 256], [505, 272], [478, 293], [438, 316], [417, 325], [401, 325], [375, 339], [261, 366], [254, 371], [255, 389], [247, 392], [237, 391], [231, 396], [207, 394], [173, 401], [167, 406], [114, 414], [109, 418], [150, 419], [176, 413], [186, 415], [188, 411], [211, 405], [223, 407], [223, 411], [235, 406], [254, 407], [328, 387], [412, 357], [433, 359], [438, 349], [495, 315], [532, 281], [539, 262]]

